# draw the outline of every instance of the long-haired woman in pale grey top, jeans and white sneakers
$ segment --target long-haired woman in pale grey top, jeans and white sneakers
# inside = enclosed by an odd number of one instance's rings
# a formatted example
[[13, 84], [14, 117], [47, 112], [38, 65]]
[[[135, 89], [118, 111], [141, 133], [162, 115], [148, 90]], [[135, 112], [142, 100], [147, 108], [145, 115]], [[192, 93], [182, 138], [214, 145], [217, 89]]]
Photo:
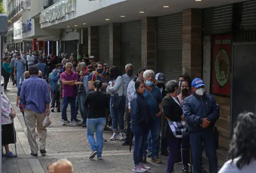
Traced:
[[116, 66], [110, 68], [110, 82], [107, 87], [107, 94], [110, 94], [110, 115], [112, 118], [113, 135], [110, 140], [116, 140], [118, 124], [119, 124], [119, 139], [124, 140], [124, 113], [125, 101], [124, 81], [122, 73]]

